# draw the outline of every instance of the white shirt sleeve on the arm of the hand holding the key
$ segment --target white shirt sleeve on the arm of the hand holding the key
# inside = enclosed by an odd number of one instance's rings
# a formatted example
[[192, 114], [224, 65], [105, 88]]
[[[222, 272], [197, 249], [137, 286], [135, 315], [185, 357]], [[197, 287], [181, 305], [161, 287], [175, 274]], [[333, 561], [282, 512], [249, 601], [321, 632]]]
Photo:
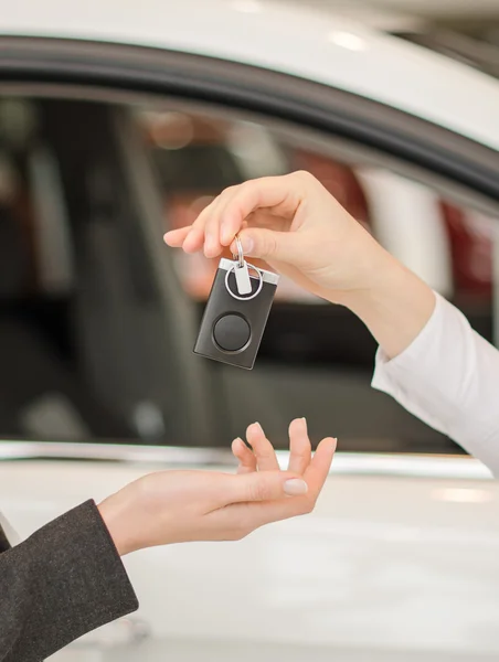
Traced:
[[372, 386], [499, 477], [499, 351], [443, 297], [402, 354], [390, 361], [378, 351]]

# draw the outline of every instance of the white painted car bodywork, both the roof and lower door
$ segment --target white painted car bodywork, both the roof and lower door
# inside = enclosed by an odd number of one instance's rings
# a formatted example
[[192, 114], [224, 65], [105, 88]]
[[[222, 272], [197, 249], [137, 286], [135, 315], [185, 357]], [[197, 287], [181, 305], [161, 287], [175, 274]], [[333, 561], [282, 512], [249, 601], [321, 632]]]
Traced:
[[[0, 36], [243, 63], [353, 93], [499, 151], [496, 81], [326, 12], [253, 0], [2, 4]], [[223, 453], [176, 448], [6, 441], [1, 458], [0, 506], [21, 537], [146, 471], [226, 469]], [[285, 466], [286, 453], [280, 459]], [[339, 452], [307, 517], [236, 544], [126, 558], [139, 612], [54, 660], [496, 660], [498, 505], [499, 487], [475, 459]]]

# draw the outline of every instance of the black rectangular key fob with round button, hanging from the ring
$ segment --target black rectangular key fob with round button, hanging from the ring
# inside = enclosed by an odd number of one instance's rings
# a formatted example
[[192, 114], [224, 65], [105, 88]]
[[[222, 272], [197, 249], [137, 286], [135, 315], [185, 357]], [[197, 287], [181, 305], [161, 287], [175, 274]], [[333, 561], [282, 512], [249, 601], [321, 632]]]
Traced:
[[194, 353], [252, 370], [278, 280], [277, 274], [257, 269], [244, 259], [222, 258]]

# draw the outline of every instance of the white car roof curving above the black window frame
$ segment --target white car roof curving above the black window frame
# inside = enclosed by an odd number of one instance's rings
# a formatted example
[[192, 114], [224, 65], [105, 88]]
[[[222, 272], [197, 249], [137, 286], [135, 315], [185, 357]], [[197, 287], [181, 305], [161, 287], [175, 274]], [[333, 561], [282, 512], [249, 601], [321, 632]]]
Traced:
[[270, 0], [15, 0], [0, 34], [201, 54], [319, 82], [499, 150], [499, 82], [331, 12]]

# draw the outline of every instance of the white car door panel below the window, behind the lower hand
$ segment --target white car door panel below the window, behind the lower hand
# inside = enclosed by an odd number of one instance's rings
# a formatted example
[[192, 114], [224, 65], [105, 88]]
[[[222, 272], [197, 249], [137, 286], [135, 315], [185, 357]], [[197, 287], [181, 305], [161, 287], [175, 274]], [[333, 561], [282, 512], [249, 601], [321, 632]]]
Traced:
[[[167, 449], [171, 463], [161, 451], [138, 465], [2, 463], [2, 508], [25, 537], [88, 495], [98, 500], [147, 471], [181, 468], [182, 452]], [[129, 450], [134, 456], [144, 460], [147, 452]], [[54, 662], [84, 662], [91, 653], [102, 662], [493, 660], [498, 502], [497, 483], [473, 459], [359, 461], [339, 453], [307, 517], [238, 543], [126, 557], [138, 613], [75, 642]]]

